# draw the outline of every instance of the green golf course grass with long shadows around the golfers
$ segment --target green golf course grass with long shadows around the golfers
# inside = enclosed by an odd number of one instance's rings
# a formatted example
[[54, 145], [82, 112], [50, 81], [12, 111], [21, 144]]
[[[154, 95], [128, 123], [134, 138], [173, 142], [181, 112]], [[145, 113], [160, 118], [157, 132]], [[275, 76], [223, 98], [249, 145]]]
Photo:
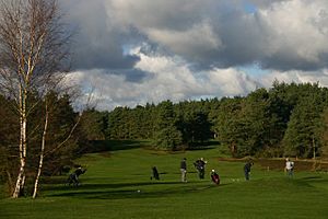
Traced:
[[[188, 183], [180, 183], [185, 157]], [[202, 181], [192, 165], [200, 157], [208, 160]], [[65, 186], [66, 177], [51, 178], [35, 200], [1, 198], [0, 218], [328, 218], [327, 173], [296, 171], [288, 178], [282, 170], [255, 163], [245, 182], [243, 162], [219, 157], [216, 148], [167, 154], [130, 147], [90, 153], [77, 161], [87, 166], [80, 187]], [[161, 181], [150, 180], [152, 165]], [[220, 186], [210, 182], [211, 169], [219, 172]]]

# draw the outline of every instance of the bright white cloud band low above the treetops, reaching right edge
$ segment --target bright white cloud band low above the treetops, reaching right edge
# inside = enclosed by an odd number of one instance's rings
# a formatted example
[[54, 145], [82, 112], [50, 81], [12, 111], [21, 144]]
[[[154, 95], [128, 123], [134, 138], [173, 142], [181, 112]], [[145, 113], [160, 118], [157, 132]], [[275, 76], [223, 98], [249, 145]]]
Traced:
[[[139, 57], [134, 69], [143, 74], [142, 80], [133, 81], [130, 74], [93, 69], [71, 72], [69, 81], [80, 84], [87, 93], [92, 91], [98, 110], [110, 111], [116, 106], [134, 107], [164, 100], [173, 102], [200, 100], [215, 96], [246, 95], [256, 88], [270, 88], [274, 80], [284, 82], [319, 82], [328, 87], [328, 69], [320, 71], [279, 71], [251, 77], [245, 69], [213, 68], [195, 71], [188, 61], [179, 56], [145, 54], [148, 45], [131, 48]], [[131, 72], [132, 73], [132, 72]], [[94, 90], [93, 90], [94, 89]], [[85, 103], [87, 94], [79, 103]]]

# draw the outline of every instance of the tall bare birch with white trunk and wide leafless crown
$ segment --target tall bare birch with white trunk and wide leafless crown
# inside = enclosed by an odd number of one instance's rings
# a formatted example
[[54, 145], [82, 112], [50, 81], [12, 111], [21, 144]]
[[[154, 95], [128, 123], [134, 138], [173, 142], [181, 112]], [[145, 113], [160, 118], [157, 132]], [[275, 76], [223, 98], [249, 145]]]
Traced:
[[12, 197], [24, 189], [28, 102], [60, 84], [69, 64], [69, 41], [57, 0], [0, 0], [0, 91], [15, 101], [20, 117], [20, 169]]

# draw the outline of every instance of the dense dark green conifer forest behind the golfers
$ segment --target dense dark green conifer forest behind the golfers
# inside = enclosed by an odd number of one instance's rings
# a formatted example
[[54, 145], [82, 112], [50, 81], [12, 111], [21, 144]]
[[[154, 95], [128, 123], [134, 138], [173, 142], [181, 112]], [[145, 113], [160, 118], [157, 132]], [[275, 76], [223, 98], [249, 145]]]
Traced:
[[89, 140], [149, 139], [156, 149], [199, 148], [216, 140], [236, 157], [326, 155], [328, 89], [317, 83], [280, 83], [247, 96], [163, 101], [83, 112]]

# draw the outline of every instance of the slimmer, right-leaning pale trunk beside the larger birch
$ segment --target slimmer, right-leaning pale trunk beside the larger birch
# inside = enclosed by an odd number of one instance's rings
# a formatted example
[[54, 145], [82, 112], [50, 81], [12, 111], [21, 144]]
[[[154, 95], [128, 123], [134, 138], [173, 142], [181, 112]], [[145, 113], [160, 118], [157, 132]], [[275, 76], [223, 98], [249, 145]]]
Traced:
[[36, 174], [35, 182], [34, 182], [34, 192], [33, 192], [33, 196], [32, 196], [33, 198], [36, 198], [36, 195], [37, 195], [39, 176], [42, 174], [43, 164], [44, 164], [44, 154], [45, 154], [45, 148], [46, 148], [46, 135], [47, 135], [47, 130], [48, 130], [48, 117], [49, 117], [49, 112], [48, 112], [48, 105], [47, 105], [47, 101], [46, 101], [45, 127], [44, 127], [43, 139], [42, 139], [42, 148], [40, 148], [40, 154], [39, 154], [39, 161], [38, 161], [38, 169], [37, 169], [37, 174]]

